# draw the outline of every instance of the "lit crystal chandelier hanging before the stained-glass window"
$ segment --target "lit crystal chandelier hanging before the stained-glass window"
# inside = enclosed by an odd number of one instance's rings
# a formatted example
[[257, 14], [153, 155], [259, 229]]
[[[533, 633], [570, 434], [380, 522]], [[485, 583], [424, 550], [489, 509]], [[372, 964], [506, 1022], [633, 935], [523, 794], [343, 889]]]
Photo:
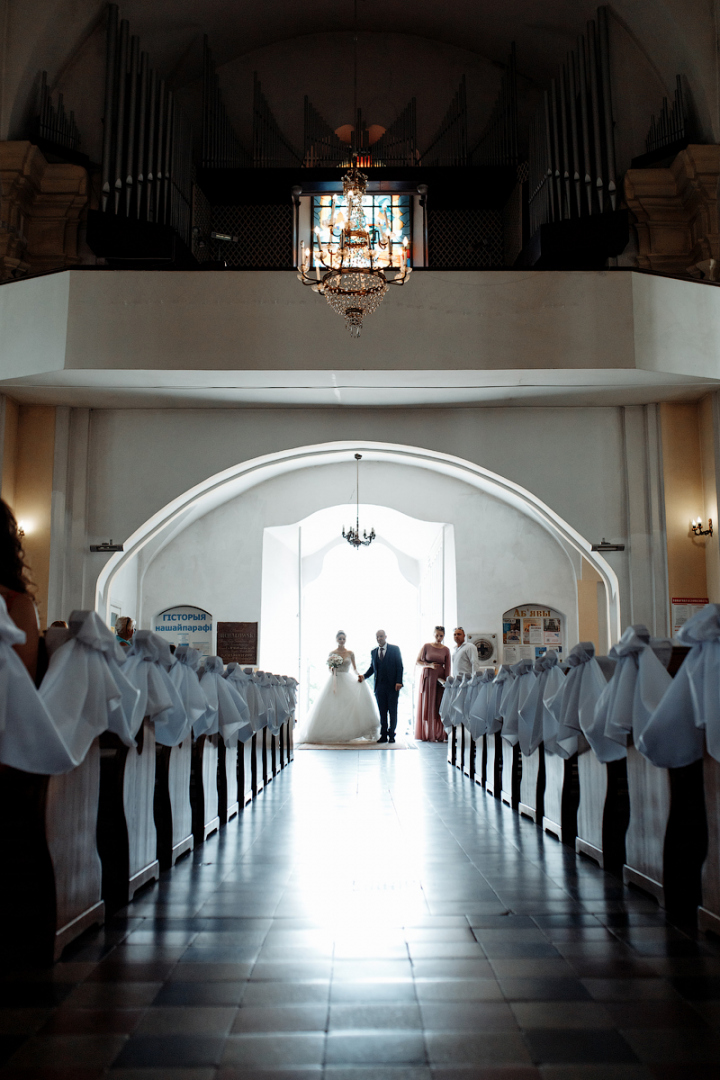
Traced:
[[[408, 266], [408, 240], [400, 238], [383, 211], [377, 226], [368, 226], [363, 208], [367, 176], [357, 170], [356, 156], [342, 177], [347, 212], [332, 199], [329, 238], [315, 227], [317, 246], [313, 267], [312, 243], [302, 242], [298, 278], [314, 293], [325, 297], [334, 311], [343, 315], [351, 337], [359, 337], [365, 315], [371, 315], [382, 302], [389, 285], [404, 285], [412, 268]], [[326, 228], [326, 233], [328, 232]], [[386, 271], [396, 270], [394, 278]]]

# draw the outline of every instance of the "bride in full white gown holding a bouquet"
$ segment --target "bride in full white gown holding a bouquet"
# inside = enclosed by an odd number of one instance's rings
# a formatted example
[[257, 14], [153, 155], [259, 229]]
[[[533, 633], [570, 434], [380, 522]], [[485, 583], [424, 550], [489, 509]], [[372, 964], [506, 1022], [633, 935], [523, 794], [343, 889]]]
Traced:
[[375, 699], [367, 683], [358, 681], [355, 653], [345, 648], [345, 640], [340, 631], [330, 656], [341, 657], [342, 664], [330, 669], [320, 698], [299, 725], [298, 743], [349, 743], [356, 739], [375, 742], [378, 738], [380, 719]]

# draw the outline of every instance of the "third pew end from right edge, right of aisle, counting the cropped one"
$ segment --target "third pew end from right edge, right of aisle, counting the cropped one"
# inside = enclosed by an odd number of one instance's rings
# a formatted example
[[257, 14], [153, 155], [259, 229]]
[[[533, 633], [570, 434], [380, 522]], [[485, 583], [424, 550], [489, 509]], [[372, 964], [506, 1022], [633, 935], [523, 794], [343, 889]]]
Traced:
[[599, 866], [622, 872], [629, 821], [627, 764], [624, 758], [602, 765], [593, 751], [578, 759], [580, 804], [575, 851]]

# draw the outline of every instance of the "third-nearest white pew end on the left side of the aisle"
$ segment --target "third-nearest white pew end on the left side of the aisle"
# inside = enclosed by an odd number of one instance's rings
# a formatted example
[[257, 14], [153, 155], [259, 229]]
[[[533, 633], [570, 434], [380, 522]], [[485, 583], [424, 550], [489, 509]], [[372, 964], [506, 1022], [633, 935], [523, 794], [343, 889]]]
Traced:
[[192, 851], [194, 846], [190, 804], [191, 770], [191, 735], [184, 739], [179, 746], [158, 746], [154, 815], [161, 869], [174, 866], [180, 855]]

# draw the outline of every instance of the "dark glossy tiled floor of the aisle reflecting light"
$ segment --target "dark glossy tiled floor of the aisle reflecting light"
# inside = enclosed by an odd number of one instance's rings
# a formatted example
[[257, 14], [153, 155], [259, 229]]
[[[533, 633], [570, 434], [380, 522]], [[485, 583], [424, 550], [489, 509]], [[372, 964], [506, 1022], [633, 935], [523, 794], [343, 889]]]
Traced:
[[104, 931], [0, 994], [0, 1080], [720, 1076], [720, 947], [438, 746], [298, 754]]

